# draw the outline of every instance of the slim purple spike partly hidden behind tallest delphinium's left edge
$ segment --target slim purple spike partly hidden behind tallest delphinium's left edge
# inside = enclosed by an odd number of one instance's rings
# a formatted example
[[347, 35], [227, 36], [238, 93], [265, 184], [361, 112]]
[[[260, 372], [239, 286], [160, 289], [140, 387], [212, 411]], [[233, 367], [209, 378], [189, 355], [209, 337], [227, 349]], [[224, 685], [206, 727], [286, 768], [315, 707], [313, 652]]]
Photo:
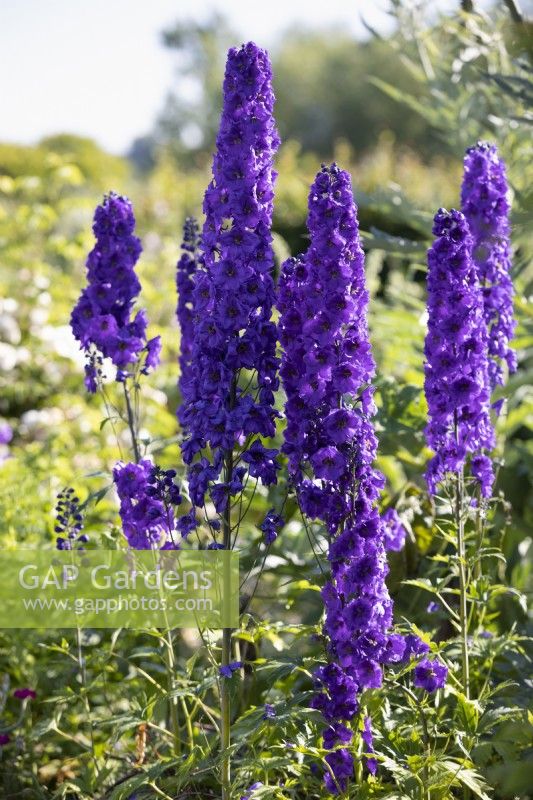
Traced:
[[[183, 226], [182, 254], [176, 268], [176, 289], [178, 292], [178, 305], [176, 315], [180, 327], [180, 379], [179, 387], [183, 387], [190, 380], [194, 340], [194, 278], [198, 270], [200, 259], [200, 229], [194, 217], [187, 217]], [[183, 409], [180, 408], [183, 413]], [[180, 418], [181, 422], [181, 418]]]

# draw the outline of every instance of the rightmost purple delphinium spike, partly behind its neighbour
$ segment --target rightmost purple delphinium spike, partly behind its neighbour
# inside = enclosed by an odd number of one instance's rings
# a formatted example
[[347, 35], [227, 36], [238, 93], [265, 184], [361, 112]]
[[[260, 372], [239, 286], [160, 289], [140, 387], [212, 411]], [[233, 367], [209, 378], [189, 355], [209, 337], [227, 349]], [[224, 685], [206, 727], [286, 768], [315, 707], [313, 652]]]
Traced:
[[496, 147], [488, 142], [470, 147], [464, 160], [461, 208], [472, 234], [474, 262], [483, 292], [492, 388], [504, 382], [502, 362], [510, 372], [516, 370], [516, 353], [510, 347], [516, 321], [508, 195], [505, 163]]

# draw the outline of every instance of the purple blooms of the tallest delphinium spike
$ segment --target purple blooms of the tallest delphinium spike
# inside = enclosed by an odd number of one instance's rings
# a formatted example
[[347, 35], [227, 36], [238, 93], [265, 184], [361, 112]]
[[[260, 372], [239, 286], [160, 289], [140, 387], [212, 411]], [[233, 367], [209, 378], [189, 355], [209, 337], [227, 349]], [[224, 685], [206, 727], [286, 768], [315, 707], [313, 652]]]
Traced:
[[[250, 475], [265, 484], [276, 481], [276, 451], [257, 438], [275, 433], [279, 384], [270, 232], [279, 139], [271, 80], [268, 56], [255, 44], [229, 51], [179, 412], [190, 493], [199, 506], [236, 443]], [[207, 446], [212, 460], [201, 454]], [[219, 506], [242, 491], [242, 470], [232, 464], [231, 480], [215, 487]]]

